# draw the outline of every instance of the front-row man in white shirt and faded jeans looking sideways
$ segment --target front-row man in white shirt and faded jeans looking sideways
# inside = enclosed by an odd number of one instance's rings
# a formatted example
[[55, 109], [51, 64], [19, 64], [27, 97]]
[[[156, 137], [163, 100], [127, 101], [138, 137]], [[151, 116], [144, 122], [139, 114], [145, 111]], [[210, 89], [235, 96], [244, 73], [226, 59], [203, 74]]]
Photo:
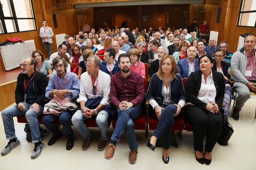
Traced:
[[96, 123], [99, 126], [101, 137], [98, 144], [98, 150], [102, 151], [107, 143], [108, 114], [114, 114], [109, 105], [110, 76], [99, 70], [100, 58], [90, 56], [87, 58], [87, 72], [81, 75], [80, 94], [77, 102], [80, 103], [80, 109], [73, 115], [71, 121], [77, 130], [84, 137], [82, 145], [83, 150], [87, 150], [93, 136], [84, 123], [84, 120], [96, 116]]

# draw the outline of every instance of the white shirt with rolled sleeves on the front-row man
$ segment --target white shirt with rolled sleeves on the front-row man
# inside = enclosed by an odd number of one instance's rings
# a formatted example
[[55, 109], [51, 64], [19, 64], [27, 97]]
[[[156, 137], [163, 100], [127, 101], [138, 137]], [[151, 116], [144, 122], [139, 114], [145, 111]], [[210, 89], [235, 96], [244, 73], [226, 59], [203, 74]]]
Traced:
[[[98, 82], [97, 82], [98, 79]], [[107, 73], [99, 70], [98, 77], [97, 77], [94, 86], [97, 86], [96, 95], [93, 95], [92, 90], [92, 79], [91, 76], [85, 72], [81, 75], [80, 81], [80, 94], [77, 102], [85, 101], [87, 102], [88, 99], [95, 98], [95, 97], [102, 97], [100, 104], [104, 106], [109, 105], [109, 91], [110, 91], [110, 76]], [[98, 83], [98, 85], [97, 85]]]

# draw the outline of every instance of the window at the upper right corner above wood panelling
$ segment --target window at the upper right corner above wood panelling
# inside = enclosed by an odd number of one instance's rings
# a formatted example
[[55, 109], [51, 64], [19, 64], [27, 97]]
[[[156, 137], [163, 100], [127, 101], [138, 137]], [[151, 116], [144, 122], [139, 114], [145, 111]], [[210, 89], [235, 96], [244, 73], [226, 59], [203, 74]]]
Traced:
[[242, 0], [237, 26], [256, 27], [256, 0]]

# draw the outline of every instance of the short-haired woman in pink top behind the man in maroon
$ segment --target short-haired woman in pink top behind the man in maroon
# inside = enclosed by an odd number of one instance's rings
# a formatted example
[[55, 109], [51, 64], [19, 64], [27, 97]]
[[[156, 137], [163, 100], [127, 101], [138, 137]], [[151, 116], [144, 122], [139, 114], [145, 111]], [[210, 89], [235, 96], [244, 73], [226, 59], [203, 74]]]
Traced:
[[131, 58], [132, 66], [131, 70], [139, 73], [144, 78], [145, 75], [145, 65], [140, 61], [140, 50], [131, 49], [129, 51], [129, 56]]

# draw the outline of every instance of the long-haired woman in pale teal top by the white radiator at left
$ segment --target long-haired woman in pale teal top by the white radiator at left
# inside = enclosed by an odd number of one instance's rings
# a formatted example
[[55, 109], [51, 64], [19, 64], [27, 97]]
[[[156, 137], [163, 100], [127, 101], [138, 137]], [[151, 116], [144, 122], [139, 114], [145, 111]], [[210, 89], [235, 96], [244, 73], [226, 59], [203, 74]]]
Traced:
[[42, 51], [40, 50], [33, 51], [31, 54], [31, 57], [35, 58], [36, 60], [36, 70], [38, 72], [41, 72], [47, 75], [48, 77], [52, 75], [52, 66], [48, 61], [44, 60], [44, 54]]

